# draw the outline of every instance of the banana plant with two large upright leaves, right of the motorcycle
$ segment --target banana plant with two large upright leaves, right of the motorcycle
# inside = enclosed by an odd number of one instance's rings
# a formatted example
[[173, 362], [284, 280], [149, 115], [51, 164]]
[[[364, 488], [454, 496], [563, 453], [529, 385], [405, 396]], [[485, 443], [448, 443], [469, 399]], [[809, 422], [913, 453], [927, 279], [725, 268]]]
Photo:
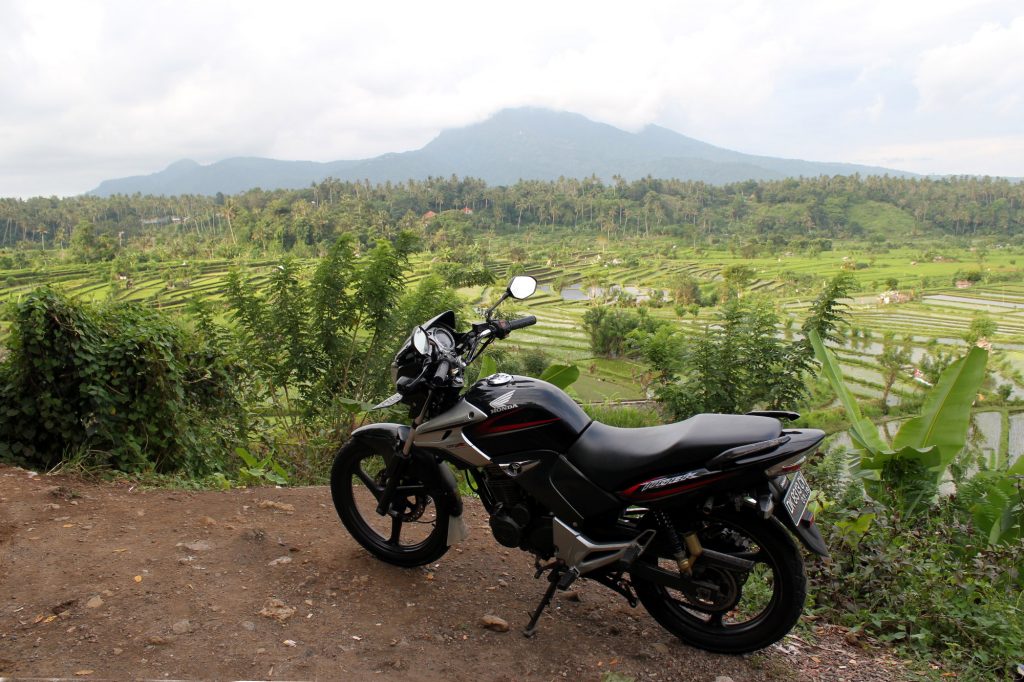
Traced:
[[833, 352], [816, 332], [808, 338], [850, 420], [851, 440], [861, 451], [864, 488], [871, 498], [891, 502], [911, 516], [935, 498], [946, 468], [964, 450], [988, 352], [974, 347], [950, 365], [928, 393], [921, 414], [904, 422], [890, 444], [861, 414]]

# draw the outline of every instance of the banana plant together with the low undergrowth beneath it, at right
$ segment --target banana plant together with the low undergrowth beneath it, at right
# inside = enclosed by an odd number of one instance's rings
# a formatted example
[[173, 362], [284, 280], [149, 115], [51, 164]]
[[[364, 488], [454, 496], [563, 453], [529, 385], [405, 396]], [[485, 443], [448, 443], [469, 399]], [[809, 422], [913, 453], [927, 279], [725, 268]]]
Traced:
[[[845, 484], [836, 484], [838, 476], [825, 482], [836, 498], [819, 501], [822, 527], [849, 550], [834, 552], [834, 561], [815, 570], [821, 610], [976, 675], [1006, 670], [1024, 656], [1018, 598], [1024, 576], [1017, 558], [1024, 459], [963, 481], [958, 497], [939, 495], [967, 444], [986, 351], [972, 348], [949, 365], [921, 414], [888, 442], [862, 416], [836, 356], [817, 334], [811, 342], [857, 447], [845, 463], [854, 475]], [[857, 504], [863, 495], [866, 510]]]

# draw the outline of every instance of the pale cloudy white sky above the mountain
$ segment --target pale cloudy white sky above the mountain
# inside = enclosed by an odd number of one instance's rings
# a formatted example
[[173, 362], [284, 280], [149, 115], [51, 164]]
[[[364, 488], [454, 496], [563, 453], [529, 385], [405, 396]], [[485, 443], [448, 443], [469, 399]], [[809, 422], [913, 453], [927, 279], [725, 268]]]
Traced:
[[1024, 177], [1024, 3], [0, 0], [0, 197], [404, 152], [510, 106]]

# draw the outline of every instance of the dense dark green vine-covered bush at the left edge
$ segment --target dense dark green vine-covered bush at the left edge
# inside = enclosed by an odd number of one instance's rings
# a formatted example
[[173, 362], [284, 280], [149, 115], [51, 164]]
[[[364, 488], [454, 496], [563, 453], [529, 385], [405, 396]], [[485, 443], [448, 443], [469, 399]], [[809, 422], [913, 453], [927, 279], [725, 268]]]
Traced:
[[138, 304], [39, 289], [14, 306], [0, 365], [0, 459], [204, 474], [242, 420], [215, 339]]

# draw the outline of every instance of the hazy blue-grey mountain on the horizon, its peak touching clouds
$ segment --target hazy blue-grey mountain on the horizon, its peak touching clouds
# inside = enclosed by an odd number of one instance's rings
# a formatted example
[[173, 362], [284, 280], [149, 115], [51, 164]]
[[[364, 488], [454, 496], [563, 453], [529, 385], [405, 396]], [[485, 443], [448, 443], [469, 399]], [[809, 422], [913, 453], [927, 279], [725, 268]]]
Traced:
[[633, 180], [652, 175], [724, 184], [854, 173], [911, 175], [872, 166], [753, 156], [653, 125], [631, 133], [579, 114], [511, 109], [482, 123], [445, 130], [414, 152], [328, 163], [237, 158], [202, 166], [178, 161], [152, 175], [104, 180], [89, 194], [233, 195], [253, 187], [306, 187], [327, 177], [402, 182], [455, 174], [502, 185], [559, 176], [610, 180], [617, 175]]

